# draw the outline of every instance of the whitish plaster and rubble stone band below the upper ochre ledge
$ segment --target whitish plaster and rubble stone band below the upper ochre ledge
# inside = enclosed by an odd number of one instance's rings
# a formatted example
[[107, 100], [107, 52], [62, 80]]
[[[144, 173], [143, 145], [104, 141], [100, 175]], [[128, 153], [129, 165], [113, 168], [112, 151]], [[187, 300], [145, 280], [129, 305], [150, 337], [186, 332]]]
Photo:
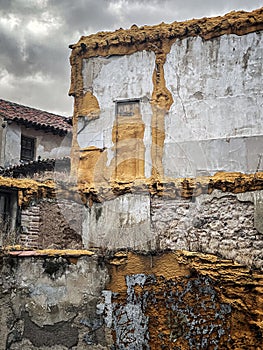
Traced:
[[84, 211], [87, 248], [185, 249], [263, 267], [262, 191], [190, 199], [125, 194]]

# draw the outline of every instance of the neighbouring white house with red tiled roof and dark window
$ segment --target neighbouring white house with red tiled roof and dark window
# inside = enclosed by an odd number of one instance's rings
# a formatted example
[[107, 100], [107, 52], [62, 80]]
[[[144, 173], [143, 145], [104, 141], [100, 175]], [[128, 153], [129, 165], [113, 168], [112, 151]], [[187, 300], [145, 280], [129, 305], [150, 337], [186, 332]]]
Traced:
[[0, 99], [0, 166], [69, 156], [71, 120]]

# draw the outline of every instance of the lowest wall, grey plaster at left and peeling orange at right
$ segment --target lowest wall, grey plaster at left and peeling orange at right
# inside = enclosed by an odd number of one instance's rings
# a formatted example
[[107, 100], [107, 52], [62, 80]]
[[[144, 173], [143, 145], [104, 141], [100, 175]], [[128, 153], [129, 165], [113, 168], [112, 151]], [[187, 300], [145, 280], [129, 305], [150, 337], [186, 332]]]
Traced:
[[213, 255], [5, 256], [0, 270], [3, 350], [261, 349], [263, 275]]

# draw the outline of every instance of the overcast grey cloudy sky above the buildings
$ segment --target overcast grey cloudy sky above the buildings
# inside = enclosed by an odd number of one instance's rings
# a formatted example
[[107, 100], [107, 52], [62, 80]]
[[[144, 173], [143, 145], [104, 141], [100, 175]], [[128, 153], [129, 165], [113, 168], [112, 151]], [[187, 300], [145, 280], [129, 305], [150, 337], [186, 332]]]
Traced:
[[0, 0], [0, 98], [72, 115], [69, 44], [132, 24], [253, 10], [262, 0]]

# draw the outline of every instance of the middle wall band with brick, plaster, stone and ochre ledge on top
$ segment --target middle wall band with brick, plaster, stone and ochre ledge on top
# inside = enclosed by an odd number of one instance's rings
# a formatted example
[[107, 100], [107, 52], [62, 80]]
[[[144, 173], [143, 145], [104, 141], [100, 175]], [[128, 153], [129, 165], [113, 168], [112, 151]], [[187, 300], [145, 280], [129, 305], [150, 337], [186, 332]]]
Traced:
[[[83, 197], [85, 205], [77, 193], [70, 197], [58, 189], [55, 199], [51, 184], [2, 180], [5, 187], [21, 187], [24, 247], [186, 249], [262, 267], [262, 173], [218, 174], [200, 182], [182, 179], [155, 187], [149, 183], [148, 188], [127, 186], [131, 193], [126, 194], [116, 187], [93, 192], [93, 197], [91, 192]], [[46, 195], [53, 198], [37, 199]]]

